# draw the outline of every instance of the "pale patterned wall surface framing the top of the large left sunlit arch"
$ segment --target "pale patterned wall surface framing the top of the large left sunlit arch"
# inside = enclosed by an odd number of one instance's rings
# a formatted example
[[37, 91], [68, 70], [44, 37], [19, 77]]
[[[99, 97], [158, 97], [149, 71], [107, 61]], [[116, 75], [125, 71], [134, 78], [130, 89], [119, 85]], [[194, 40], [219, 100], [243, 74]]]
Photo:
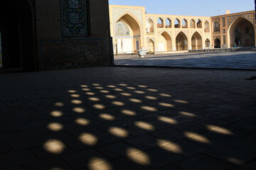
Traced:
[[124, 13], [132, 13], [140, 22], [141, 26], [143, 27], [143, 17], [142, 17], [142, 9], [135, 9], [135, 8], [114, 8], [112, 7], [112, 24], [114, 27], [115, 22], [119, 17], [124, 15]]

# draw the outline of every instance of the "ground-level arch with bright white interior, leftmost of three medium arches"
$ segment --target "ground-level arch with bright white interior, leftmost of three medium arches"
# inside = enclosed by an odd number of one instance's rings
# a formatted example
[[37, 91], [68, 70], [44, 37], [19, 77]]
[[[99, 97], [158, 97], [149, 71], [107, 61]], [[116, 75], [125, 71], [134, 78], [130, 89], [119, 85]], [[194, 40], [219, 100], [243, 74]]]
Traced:
[[159, 37], [159, 51], [171, 51], [171, 36], [164, 31]]

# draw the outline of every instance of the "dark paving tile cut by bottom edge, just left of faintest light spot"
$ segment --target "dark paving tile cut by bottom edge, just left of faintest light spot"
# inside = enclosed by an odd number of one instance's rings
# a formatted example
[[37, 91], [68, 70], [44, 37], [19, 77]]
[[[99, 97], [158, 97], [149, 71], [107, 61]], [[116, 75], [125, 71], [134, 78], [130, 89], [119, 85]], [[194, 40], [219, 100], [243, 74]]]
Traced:
[[235, 168], [235, 166], [231, 164], [221, 162], [218, 159], [214, 159], [203, 154], [183, 159], [175, 164], [186, 170], [228, 170]]

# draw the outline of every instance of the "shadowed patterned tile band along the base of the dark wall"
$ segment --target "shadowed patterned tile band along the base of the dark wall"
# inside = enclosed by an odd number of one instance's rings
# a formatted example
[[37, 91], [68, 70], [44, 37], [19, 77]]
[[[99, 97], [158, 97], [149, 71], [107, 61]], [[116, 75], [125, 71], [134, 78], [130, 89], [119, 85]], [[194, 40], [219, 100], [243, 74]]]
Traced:
[[107, 40], [41, 40], [40, 60], [42, 69], [107, 65]]

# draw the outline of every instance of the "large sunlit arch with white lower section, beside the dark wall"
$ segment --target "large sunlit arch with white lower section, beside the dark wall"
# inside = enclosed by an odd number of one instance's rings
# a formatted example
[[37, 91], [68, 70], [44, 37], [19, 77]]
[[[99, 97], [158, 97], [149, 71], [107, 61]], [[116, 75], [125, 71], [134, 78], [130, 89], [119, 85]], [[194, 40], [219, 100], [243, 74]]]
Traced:
[[134, 53], [141, 48], [139, 23], [128, 13], [119, 18], [114, 26], [117, 53]]

